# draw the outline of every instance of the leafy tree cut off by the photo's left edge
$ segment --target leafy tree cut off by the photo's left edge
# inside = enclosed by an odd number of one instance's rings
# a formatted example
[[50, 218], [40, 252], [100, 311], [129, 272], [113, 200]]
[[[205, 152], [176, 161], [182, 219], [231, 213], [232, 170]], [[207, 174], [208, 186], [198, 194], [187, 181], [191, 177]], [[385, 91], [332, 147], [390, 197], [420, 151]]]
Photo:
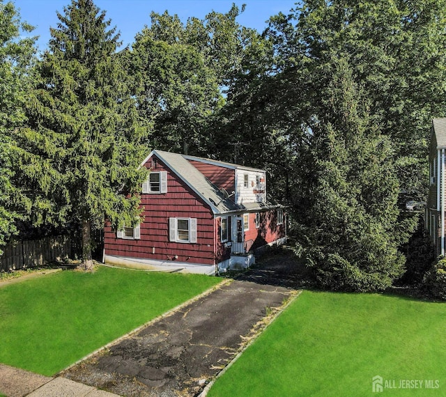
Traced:
[[21, 39], [20, 35], [32, 30], [20, 21], [13, 3], [0, 0], [0, 247], [17, 231], [15, 220], [26, 212], [26, 200], [14, 182], [15, 141], [11, 135], [26, 123], [24, 103], [36, 49], [34, 38]]

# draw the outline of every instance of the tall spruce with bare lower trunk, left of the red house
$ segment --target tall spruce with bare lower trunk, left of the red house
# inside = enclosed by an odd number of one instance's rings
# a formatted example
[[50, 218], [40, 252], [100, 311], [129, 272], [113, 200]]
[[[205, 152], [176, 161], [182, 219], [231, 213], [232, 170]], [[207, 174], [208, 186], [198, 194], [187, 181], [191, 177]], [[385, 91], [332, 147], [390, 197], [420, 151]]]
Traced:
[[22, 180], [32, 186], [35, 224], [82, 231], [82, 267], [91, 260], [91, 230], [104, 217], [115, 228], [138, 221], [148, 151], [128, 89], [116, 28], [92, 0], [57, 13], [49, 50], [37, 65], [27, 109], [30, 128], [17, 133]]

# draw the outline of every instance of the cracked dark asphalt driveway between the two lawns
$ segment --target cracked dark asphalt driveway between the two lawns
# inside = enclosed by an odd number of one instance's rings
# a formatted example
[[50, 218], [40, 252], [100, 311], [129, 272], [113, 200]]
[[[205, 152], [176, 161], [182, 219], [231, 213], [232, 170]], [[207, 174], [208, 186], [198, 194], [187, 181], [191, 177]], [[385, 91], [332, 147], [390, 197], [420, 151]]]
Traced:
[[121, 396], [197, 396], [295, 295], [289, 258], [266, 257], [61, 375]]

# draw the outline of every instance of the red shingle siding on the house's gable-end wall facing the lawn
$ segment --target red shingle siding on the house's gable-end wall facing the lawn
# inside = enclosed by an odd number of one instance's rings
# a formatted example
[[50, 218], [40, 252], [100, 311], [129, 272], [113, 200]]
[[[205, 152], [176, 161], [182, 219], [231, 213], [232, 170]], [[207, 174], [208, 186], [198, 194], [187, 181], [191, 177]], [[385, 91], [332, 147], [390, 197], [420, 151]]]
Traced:
[[[154, 162], [150, 159], [146, 166], [151, 167], [153, 164]], [[141, 206], [144, 207], [141, 239], [118, 239], [116, 231], [112, 231], [109, 224], [106, 224], [105, 254], [206, 265], [215, 264], [215, 233], [212, 212], [160, 160], [157, 160], [157, 166], [153, 171], [167, 171], [167, 193], [143, 194], [141, 196]], [[170, 242], [169, 217], [197, 218], [197, 243]], [[154, 254], [153, 249], [155, 249]], [[174, 256], [178, 256], [178, 258], [175, 259]]]

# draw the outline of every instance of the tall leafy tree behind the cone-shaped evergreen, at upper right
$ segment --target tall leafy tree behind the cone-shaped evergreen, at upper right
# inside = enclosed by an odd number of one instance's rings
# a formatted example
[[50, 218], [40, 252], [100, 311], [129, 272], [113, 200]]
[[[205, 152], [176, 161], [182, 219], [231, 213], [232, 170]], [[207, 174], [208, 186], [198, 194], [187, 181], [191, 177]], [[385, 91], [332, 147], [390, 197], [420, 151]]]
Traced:
[[303, 1], [269, 30], [286, 81], [282, 104], [311, 123], [330, 78], [318, 69], [332, 52], [348, 54], [371, 117], [394, 145], [402, 189], [424, 198], [431, 118], [446, 113], [445, 22], [444, 0]]

